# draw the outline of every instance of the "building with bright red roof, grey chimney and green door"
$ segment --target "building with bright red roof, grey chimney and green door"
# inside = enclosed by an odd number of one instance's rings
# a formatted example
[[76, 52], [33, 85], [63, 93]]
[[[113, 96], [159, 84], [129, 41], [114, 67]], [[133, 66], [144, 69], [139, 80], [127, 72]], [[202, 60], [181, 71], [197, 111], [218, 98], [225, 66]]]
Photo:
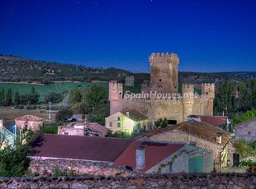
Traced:
[[185, 143], [134, 140], [115, 160], [142, 173], [211, 173], [211, 151]]

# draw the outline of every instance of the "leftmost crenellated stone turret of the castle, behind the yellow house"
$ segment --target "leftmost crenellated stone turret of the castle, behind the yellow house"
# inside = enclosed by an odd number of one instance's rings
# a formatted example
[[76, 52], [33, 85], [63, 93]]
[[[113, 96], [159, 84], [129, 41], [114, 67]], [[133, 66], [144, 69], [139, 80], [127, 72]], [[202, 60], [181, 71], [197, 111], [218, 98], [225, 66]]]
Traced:
[[123, 84], [117, 83], [116, 80], [109, 82], [108, 100], [110, 101], [110, 114], [121, 111], [123, 96]]

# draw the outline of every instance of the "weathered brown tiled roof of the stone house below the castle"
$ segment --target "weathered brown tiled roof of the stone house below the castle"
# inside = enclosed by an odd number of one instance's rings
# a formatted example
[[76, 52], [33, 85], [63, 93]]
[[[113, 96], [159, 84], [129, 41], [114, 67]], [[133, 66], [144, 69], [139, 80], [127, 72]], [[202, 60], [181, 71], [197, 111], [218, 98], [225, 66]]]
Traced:
[[211, 141], [216, 143], [216, 133], [220, 132], [222, 134], [222, 143], [229, 141], [230, 133], [219, 127], [212, 126], [206, 122], [197, 122], [196, 120], [190, 120], [186, 122], [181, 122], [178, 125], [172, 127], [166, 127], [164, 129], [158, 129], [154, 131], [149, 131], [140, 137], [150, 137], [159, 135], [168, 131], [183, 131], [189, 135], [197, 136], [205, 139], [206, 141]]

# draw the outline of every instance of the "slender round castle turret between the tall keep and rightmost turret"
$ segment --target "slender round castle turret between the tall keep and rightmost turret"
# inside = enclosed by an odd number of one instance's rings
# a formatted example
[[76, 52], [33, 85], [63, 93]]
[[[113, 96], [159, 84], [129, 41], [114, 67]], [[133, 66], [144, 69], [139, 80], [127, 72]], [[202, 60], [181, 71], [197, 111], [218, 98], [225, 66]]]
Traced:
[[183, 84], [183, 121], [187, 120], [187, 117], [191, 115], [194, 104], [194, 85]]

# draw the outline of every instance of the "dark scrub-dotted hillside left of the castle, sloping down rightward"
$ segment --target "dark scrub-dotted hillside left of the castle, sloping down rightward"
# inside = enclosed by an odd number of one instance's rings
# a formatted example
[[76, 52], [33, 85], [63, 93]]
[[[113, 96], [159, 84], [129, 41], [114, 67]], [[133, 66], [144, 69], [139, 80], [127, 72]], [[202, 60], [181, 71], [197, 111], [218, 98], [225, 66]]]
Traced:
[[130, 74], [129, 71], [113, 67], [92, 68], [12, 56], [0, 56], [0, 71], [0, 81], [36, 81], [43, 84], [52, 81], [109, 81]]

